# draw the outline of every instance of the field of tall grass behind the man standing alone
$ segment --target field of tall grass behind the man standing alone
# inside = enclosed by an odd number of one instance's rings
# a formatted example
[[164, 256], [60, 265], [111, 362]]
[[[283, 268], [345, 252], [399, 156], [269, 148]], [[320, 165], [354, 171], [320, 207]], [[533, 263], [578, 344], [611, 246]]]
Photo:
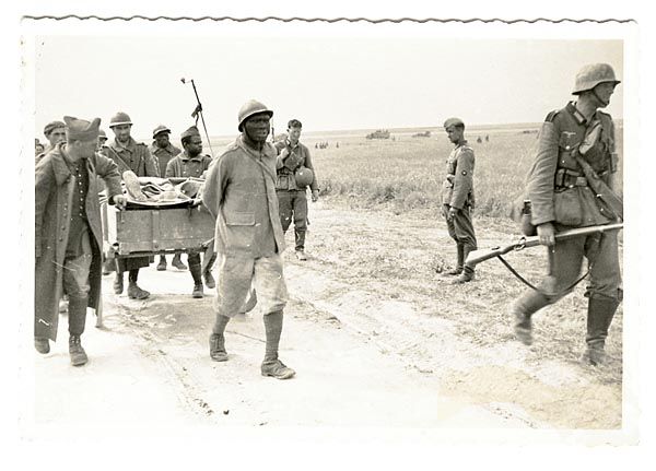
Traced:
[[[536, 125], [466, 132], [476, 153], [476, 215], [508, 215], [532, 163], [537, 130]], [[621, 128], [618, 134], [621, 162]], [[444, 132], [436, 130], [431, 138], [393, 133], [394, 141], [364, 137], [363, 131], [362, 136], [333, 139], [302, 138], [311, 148], [324, 196], [349, 197], [353, 203], [359, 201], [368, 208], [385, 203], [397, 212], [440, 205], [445, 163], [453, 149]], [[477, 143], [478, 137], [482, 138], [481, 143]], [[314, 144], [321, 140], [328, 141], [329, 146], [315, 149]]]

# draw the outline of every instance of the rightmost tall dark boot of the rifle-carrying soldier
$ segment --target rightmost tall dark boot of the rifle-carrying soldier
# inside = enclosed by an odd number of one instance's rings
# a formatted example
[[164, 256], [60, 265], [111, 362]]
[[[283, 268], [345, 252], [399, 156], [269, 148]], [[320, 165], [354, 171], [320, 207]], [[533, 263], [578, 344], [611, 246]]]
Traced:
[[584, 362], [593, 366], [606, 363], [606, 338], [619, 304], [618, 299], [608, 296], [591, 295], [588, 299]]

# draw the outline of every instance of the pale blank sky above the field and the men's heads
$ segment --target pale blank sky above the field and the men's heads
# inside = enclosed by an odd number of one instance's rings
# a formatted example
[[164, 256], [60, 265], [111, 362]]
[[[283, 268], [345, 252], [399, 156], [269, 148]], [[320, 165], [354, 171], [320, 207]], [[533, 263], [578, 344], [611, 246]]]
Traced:
[[[174, 141], [192, 125], [196, 81], [209, 132], [236, 133], [248, 98], [276, 111], [283, 130], [306, 131], [535, 122], [571, 99], [582, 64], [608, 62], [623, 78], [621, 40], [455, 39], [436, 37], [39, 36], [35, 133], [63, 115], [118, 110], [133, 136], [159, 123]], [[622, 117], [620, 85], [608, 111]]]

